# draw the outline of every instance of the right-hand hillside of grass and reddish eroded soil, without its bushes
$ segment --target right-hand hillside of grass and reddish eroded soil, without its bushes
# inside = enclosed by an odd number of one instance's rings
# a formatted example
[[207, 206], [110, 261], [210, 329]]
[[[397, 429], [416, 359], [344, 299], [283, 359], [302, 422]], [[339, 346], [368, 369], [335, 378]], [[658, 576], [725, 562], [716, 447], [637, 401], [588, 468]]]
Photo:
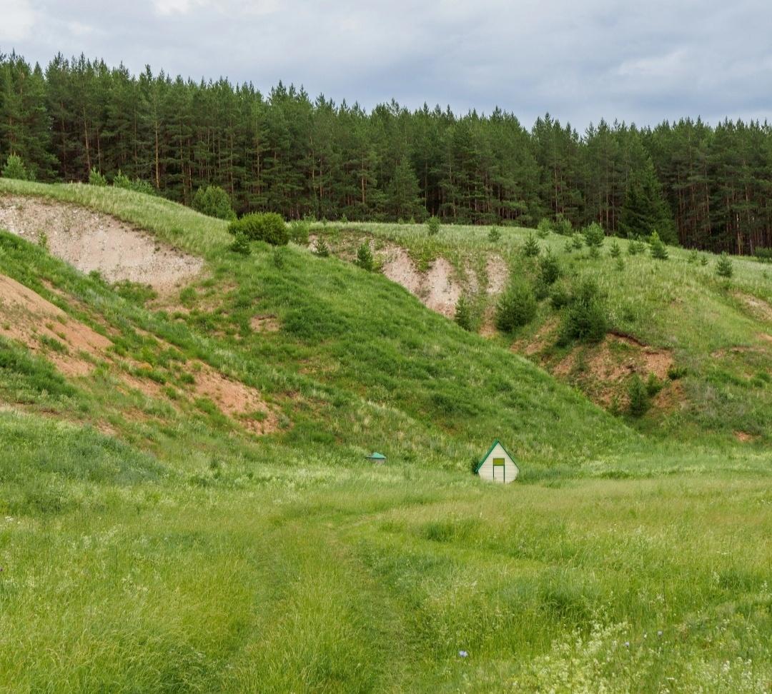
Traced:
[[[633, 372], [646, 379], [659, 371], [664, 388], [652, 409], [641, 421], [628, 419], [639, 430], [686, 442], [708, 436], [716, 446], [738, 438], [750, 446], [772, 443], [772, 266], [733, 257], [732, 277], [722, 278], [715, 254], [670, 247], [663, 261], [652, 258], [648, 244], [631, 255], [631, 241], [606, 238], [595, 256], [579, 233], [499, 227], [500, 238], [491, 241], [490, 228], [446, 226], [431, 236], [415, 224], [318, 224], [314, 233], [344, 258], [354, 258], [369, 239], [381, 258], [405, 248], [418, 270], [447, 259], [452, 281], [486, 315], [477, 327], [496, 345], [511, 346], [610, 411], [624, 412]], [[538, 243], [536, 258], [523, 255], [528, 238]], [[491, 335], [498, 295], [486, 295], [486, 261], [496, 258], [506, 271], [538, 281], [539, 259], [548, 251], [561, 278], [547, 288], [536, 318], [512, 335]], [[591, 278], [605, 296], [611, 336], [600, 346], [561, 346], [560, 312], [550, 293], [581, 278]], [[506, 275], [499, 281], [506, 283]], [[636, 368], [627, 369], [631, 364]]]

